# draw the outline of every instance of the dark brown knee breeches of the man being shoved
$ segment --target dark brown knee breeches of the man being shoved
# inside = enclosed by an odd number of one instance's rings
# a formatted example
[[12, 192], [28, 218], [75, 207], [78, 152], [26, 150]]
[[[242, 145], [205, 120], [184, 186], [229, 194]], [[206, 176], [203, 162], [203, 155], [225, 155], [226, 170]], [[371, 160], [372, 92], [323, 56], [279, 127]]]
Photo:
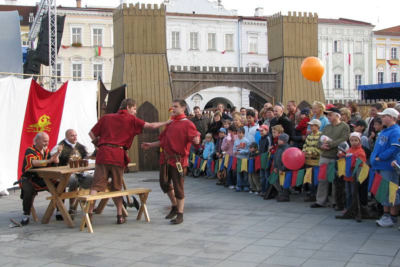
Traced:
[[[186, 167], [183, 167], [183, 173], [186, 174]], [[171, 165], [168, 166], [168, 182], [164, 183], [164, 164], [159, 166], [159, 186], [164, 193], [173, 190], [177, 199], [183, 199], [183, 183], [184, 179], [180, 176], [178, 169]]]

